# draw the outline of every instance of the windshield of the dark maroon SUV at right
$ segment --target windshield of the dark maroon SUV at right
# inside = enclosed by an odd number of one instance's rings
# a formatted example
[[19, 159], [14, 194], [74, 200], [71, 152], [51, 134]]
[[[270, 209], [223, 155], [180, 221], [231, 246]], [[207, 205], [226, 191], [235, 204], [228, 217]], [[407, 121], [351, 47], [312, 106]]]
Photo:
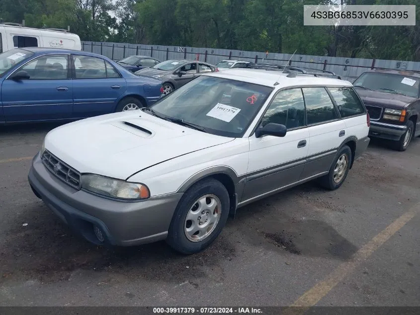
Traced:
[[419, 98], [420, 79], [399, 74], [366, 72], [353, 82], [353, 86]]

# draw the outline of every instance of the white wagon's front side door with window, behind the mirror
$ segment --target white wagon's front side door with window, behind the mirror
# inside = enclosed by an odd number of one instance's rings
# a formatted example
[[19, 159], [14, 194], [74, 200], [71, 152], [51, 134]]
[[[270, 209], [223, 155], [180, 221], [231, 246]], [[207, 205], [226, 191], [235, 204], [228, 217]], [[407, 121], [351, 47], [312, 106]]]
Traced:
[[263, 196], [299, 181], [305, 167], [309, 130], [305, 126], [302, 90], [277, 93], [261, 124], [269, 122], [287, 127], [284, 137], [250, 137], [250, 160], [242, 202]]

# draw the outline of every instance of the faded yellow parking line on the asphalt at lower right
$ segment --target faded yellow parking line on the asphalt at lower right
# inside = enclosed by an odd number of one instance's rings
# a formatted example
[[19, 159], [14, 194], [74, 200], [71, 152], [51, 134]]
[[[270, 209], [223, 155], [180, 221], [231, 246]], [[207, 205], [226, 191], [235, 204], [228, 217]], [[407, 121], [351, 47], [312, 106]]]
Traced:
[[[360, 248], [350, 261], [344, 262], [338, 268], [329, 274], [323, 281], [318, 282], [311, 289], [300, 296], [291, 307], [301, 307], [298, 309], [289, 309], [293, 314], [302, 314], [308, 308], [315, 306], [324, 298], [334, 287], [351, 273], [356, 267], [363, 263], [372, 253], [382, 246], [392, 235], [398, 232], [407, 222], [419, 213], [420, 203], [405, 212], [398, 219], [388, 225], [384, 230], [372, 238], [366, 245]], [[302, 308], [303, 307], [303, 308]]]

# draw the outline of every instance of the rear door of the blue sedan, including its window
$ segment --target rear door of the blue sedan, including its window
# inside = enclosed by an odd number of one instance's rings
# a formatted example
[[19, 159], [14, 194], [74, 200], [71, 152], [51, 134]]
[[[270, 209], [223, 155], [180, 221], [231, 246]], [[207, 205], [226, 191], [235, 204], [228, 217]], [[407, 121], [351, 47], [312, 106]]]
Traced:
[[106, 60], [72, 55], [73, 117], [84, 118], [113, 112], [127, 83]]

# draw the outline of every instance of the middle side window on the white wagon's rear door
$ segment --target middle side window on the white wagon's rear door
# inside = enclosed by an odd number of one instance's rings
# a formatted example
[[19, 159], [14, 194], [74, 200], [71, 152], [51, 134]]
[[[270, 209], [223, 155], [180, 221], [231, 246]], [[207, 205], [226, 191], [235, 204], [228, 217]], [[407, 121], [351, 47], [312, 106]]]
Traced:
[[338, 118], [334, 104], [325, 88], [303, 88], [308, 124]]

